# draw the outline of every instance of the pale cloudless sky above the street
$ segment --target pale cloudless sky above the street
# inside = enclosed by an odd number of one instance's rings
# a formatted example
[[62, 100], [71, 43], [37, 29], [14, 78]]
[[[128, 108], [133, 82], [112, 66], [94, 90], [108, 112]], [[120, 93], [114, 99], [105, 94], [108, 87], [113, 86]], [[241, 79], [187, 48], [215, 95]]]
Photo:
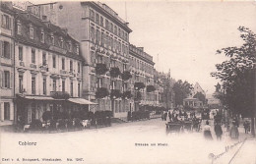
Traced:
[[170, 70], [176, 81], [199, 82], [207, 94], [219, 82], [210, 73], [227, 59], [216, 51], [242, 44], [239, 26], [256, 32], [256, 1], [101, 2], [129, 23], [130, 43], [144, 47], [158, 71]]

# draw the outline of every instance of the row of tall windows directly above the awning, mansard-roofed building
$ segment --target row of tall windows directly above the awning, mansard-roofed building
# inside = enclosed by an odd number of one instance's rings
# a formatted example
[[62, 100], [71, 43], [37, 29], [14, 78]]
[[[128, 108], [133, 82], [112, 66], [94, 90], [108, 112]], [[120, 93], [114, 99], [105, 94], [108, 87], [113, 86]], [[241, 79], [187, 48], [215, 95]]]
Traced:
[[[19, 75], [19, 92], [23, 93], [24, 90], [24, 76], [22, 74]], [[66, 91], [66, 82], [64, 80], [62, 80], [61, 83], [61, 91]], [[78, 96], [80, 97], [80, 89], [81, 89], [81, 84], [80, 82], [78, 83]], [[57, 80], [56, 79], [52, 79], [52, 91], [57, 91]], [[47, 82], [46, 82], [46, 77], [43, 78], [42, 80], [42, 94], [46, 95], [47, 92]], [[32, 94], [36, 94], [36, 87], [35, 87], [35, 77], [32, 76]], [[70, 95], [74, 96], [74, 82], [70, 82]]]

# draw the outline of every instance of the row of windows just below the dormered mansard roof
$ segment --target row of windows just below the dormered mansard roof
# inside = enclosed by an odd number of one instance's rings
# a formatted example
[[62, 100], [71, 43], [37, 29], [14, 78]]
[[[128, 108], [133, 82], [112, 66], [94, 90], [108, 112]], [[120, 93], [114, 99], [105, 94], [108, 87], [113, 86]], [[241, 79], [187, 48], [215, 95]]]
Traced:
[[[23, 47], [22, 46], [19, 46], [19, 60], [20, 61], [23, 61], [24, 60], [24, 55], [23, 55]], [[61, 60], [61, 69], [62, 70], [65, 70], [65, 58], [62, 58]], [[32, 64], [35, 64], [35, 50], [32, 49]], [[46, 66], [47, 65], [47, 59], [46, 59], [46, 53], [45, 52], [42, 52], [42, 65], [43, 66]], [[52, 68], [56, 68], [56, 56], [53, 55], [52, 56]], [[80, 70], [81, 70], [81, 64], [80, 62], [78, 62], [78, 65], [77, 65], [77, 69], [78, 69], [78, 73], [80, 73]], [[70, 60], [70, 65], [69, 65], [69, 71], [70, 72], [74, 72], [74, 68], [73, 68], [73, 61]]]

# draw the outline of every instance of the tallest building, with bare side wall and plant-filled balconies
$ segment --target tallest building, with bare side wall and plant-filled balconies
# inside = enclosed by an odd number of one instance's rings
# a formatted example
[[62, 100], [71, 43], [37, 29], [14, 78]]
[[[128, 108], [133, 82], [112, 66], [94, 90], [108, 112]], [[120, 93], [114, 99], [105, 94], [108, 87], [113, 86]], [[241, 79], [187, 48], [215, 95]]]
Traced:
[[[41, 20], [68, 28], [80, 41], [83, 97], [98, 103], [96, 110], [111, 110], [114, 117], [127, 117], [131, 110], [128, 23], [99, 2], [57, 2], [29, 7]], [[109, 94], [110, 93], [110, 94]], [[127, 96], [121, 96], [126, 93]], [[110, 95], [110, 96], [109, 96]], [[126, 98], [124, 98], [126, 97]]]

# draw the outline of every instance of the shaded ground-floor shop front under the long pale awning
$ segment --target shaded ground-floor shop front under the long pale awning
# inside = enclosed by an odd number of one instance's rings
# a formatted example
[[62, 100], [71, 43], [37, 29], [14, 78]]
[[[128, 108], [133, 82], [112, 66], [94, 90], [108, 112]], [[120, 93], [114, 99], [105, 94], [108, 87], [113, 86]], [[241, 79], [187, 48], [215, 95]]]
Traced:
[[83, 120], [89, 106], [96, 103], [84, 98], [57, 99], [49, 96], [18, 96], [17, 123], [20, 125], [42, 125], [61, 120]]

